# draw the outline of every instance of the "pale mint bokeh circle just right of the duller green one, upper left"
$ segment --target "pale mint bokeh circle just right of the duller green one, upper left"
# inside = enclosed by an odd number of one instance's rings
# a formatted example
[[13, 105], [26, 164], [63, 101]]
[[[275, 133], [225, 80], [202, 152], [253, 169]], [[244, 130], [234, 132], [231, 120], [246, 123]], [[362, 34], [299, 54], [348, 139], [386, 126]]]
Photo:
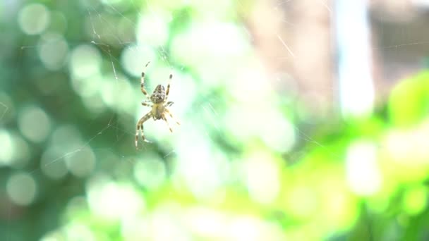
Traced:
[[99, 73], [102, 57], [98, 49], [91, 45], [83, 44], [73, 49], [69, 63], [73, 78], [89, 78]]

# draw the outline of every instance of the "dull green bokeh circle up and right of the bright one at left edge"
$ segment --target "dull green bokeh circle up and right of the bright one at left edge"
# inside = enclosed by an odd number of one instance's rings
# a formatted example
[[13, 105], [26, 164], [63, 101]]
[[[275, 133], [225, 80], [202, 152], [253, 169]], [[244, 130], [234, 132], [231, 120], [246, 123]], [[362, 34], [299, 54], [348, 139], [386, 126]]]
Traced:
[[18, 127], [28, 140], [43, 142], [51, 131], [51, 121], [37, 106], [29, 106], [18, 116]]

